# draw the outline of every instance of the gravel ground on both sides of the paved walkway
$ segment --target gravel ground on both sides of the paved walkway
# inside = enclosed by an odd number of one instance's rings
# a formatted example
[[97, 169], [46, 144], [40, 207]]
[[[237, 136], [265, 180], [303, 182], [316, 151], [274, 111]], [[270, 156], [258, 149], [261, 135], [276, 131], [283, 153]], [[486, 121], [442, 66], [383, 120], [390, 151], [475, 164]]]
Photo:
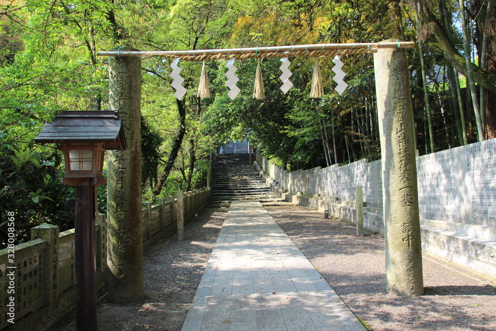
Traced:
[[[353, 224], [286, 202], [265, 208], [363, 323], [376, 331], [496, 331], [494, 279], [424, 254], [425, 295], [388, 296], [384, 240], [355, 235]], [[104, 331], [179, 331], [228, 208], [208, 208], [186, 226], [186, 240], [167, 238], [145, 254], [142, 302], [116, 305], [103, 298]], [[103, 293], [105, 290], [103, 291]], [[72, 331], [74, 313], [54, 331]]]

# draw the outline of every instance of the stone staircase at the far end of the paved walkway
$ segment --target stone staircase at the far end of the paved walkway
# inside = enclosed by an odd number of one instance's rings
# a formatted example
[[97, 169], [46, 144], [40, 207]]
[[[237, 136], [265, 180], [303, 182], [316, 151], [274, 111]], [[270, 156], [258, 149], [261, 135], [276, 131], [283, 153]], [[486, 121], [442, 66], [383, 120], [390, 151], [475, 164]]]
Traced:
[[260, 178], [248, 154], [220, 154], [212, 173], [212, 203], [281, 200]]

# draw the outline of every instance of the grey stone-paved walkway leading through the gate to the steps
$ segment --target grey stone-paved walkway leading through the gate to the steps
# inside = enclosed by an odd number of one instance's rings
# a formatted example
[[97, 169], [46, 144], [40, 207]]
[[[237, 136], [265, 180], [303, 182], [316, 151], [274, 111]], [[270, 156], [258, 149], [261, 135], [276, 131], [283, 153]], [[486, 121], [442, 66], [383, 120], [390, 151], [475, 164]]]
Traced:
[[366, 330], [258, 201], [233, 201], [183, 331]]

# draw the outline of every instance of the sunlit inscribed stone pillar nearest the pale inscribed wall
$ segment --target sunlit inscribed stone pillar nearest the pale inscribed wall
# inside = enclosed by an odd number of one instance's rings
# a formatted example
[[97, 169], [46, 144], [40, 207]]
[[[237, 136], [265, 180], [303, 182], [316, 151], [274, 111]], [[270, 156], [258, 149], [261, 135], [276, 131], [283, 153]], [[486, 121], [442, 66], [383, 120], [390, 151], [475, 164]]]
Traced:
[[[389, 42], [396, 40], [389, 40]], [[374, 54], [379, 117], [386, 290], [424, 293], [412, 98], [405, 49]]]

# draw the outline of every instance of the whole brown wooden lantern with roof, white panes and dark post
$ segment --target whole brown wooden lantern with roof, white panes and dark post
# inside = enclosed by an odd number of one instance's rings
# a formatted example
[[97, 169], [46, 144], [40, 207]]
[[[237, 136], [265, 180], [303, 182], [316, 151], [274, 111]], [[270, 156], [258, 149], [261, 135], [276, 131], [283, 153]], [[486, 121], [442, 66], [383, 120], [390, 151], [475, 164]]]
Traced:
[[65, 111], [34, 138], [55, 142], [64, 154], [62, 183], [74, 186], [76, 269], [76, 329], [97, 330], [95, 219], [98, 214], [97, 185], [103, 177], [105, 151], [125, 149], [123, 119], [118, 111]]

